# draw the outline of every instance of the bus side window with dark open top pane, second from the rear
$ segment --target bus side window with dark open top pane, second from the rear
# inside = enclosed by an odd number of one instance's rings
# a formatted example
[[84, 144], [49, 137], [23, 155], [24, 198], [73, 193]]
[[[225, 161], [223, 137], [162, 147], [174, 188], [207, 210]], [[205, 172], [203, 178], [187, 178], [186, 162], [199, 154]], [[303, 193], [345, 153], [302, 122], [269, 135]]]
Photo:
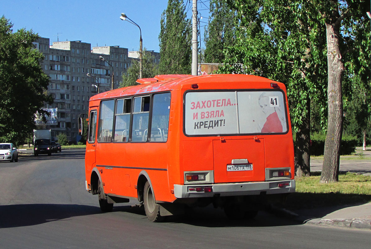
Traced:
[[131, 141], [146, 142], [148, 137], [148, 118], [150, 96], [134, 98]]

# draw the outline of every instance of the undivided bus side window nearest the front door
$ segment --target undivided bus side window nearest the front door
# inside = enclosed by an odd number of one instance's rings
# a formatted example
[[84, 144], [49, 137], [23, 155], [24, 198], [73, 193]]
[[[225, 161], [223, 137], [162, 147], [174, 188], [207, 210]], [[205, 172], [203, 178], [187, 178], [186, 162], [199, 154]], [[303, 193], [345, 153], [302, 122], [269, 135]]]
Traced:
[[115, 101], [106, 100], [101, 102], [98, 122], [98, 142], [112, 141], [112, 127], [114, 123]]

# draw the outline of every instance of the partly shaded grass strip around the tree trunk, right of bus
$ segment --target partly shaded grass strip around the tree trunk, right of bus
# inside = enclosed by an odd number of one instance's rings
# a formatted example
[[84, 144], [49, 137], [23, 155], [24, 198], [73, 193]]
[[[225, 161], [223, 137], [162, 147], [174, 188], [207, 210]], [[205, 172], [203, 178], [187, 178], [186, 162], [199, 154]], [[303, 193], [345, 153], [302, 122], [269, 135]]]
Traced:
[[371, 202], [371, 176], [346, 173], [337, 183], [319, 183], [319, 175], [298, 177], [296, 193], [290, 194], [289, 209], [337, 206]]

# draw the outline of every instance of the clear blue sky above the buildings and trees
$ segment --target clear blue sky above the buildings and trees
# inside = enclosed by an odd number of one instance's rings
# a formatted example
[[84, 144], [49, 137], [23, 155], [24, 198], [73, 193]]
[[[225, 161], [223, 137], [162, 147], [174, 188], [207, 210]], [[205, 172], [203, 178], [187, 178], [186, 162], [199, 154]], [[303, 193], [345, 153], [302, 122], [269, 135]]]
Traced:
[[[190, 3], [189, 3], [190, 1]], [[119, 19], [125, 13], [142, 30], [143, 47], [160, 52], [158, 35], [167, 0], [0, 0], [0, 16], [10, 19], [13, 32], [32, 29], [53, 42], [81, 40], [95, 46], [120, 46], [139, 50], [139, 29]], [[188, 18], [192, 0], [184, 0]], [[198, 12], [207, 22], [209, 1], [198, 0]], [[205, 25], [201, 23], [201, 39]], [[203, 46], [203, 43], [202, 43]]]

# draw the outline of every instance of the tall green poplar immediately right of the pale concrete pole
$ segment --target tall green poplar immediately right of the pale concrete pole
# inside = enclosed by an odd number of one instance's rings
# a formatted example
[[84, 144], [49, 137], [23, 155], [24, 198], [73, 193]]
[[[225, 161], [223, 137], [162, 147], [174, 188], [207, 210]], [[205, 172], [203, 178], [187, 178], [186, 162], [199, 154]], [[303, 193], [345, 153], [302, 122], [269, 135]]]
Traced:
[[205, 62], [220, 63], [225, 54], [223, 50], [232, 46], [236, 38], [233, 20], [235, 12], [227, 5], [226, 0], [210, 1], [209, 24], [205, 27]]

